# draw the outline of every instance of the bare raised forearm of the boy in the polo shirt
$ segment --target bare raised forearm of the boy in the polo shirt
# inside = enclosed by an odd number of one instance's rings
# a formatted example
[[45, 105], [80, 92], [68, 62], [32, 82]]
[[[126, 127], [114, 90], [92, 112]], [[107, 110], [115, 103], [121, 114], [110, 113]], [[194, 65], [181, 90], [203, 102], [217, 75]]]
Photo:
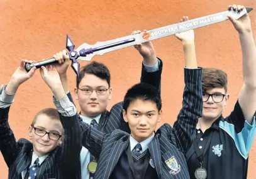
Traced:
[[243, 55], [243, 80], [247, 87], [256, 88], [256, 48], [251, 31], [239, 35]]

